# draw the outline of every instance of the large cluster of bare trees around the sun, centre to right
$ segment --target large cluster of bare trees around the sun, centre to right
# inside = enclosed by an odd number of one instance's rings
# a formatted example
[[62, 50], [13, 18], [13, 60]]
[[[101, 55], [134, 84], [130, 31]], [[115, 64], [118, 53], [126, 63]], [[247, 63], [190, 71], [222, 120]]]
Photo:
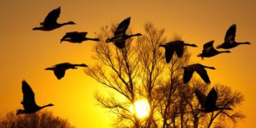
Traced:
[[[165, 50], [159, 47], [166, 42], [164, 29], [148, 23], [143, 36], [128, 39], [125, 47], [119, 49], [102, 42], [113, 36], [115, 27], [102, 27], [98, 34], [101, 42], [96, 43], [93, 56], [97, 63], [85, 70], [91, 78], [108, 87], [109, 94], [97, 93], [96, 100], [115, 115], [114, 127], [210, 127], [219, 120], [230, 119], [236, 123], [244, 118], [235, 111], [243, 100], [241, 93], [231, 92], [227, 86], [217, 86], [218, 105], [229, 106], [234, 111], [210, 115], [195, 110], [201, 107], [194, 94], [195, 86], [204, 93], [209, 86], [195, 80], [183, 84], [182, 67], [188, 65], [190, 57], [186, 47], [182, 58], [174, 55], [170, 64], [166, 64]], [[173, 36], [172, 40], [181, 40], [181, 37]], [[150, 113], [146, 118], [139, 119], [136, 111], [130, 111], [131, 105], [136, 110], [134, 103], [138, 99], [148, 100]]]

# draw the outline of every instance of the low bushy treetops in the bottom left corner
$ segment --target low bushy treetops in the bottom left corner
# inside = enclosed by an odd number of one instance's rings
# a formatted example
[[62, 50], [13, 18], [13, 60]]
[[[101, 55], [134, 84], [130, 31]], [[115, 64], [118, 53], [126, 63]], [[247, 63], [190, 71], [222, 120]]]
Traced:
[[52, 112], [16, 115], [9, 112], [0, 119], [1, 128], [74, 128], [67, 120], [54, 116]]

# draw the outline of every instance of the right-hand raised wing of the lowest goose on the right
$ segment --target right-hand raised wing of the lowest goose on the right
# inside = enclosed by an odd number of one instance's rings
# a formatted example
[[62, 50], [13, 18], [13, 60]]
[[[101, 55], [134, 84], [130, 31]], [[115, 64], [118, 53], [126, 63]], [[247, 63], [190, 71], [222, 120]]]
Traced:
[[216, 90], [212, 87], [212, 90], [207, 95], [207, 99], [205, 101], [205, 108], [212, 108], [213, 106], [216, 106], [217, 98], [218, 94]]

